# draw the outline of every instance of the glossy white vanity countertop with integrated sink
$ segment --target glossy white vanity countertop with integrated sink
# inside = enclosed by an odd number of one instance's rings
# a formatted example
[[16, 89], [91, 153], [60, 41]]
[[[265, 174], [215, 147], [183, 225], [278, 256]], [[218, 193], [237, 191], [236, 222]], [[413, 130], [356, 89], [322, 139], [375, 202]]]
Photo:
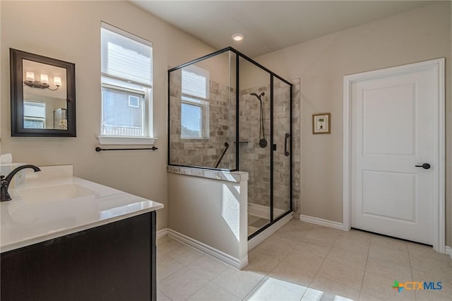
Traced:
[[[72, 177], [72, 166], [28, 172], [0, 203], [0, 252], [163, 208], [161, 203]], [[73, 195], [69, 191], [76, 190]], [[45, 197], [42, 197], [45, 196]]]

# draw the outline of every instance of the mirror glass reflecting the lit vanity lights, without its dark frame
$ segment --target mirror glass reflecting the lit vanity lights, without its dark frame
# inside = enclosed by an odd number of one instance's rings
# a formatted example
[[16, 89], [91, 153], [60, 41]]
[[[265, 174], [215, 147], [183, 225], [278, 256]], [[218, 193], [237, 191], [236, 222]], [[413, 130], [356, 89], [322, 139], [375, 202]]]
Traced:
[[66, 69], [28, 59], [22, 63], [24, 129], [67, 130]]

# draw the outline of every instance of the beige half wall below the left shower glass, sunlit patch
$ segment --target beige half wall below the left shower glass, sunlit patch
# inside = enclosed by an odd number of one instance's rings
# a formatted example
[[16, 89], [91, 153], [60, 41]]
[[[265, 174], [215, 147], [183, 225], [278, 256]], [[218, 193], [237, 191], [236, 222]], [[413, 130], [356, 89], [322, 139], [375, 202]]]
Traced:
[[[230, 176], [227, 172], [218, 172], [218, 175]], [[241, 177], [248, 178], [247, 175]], [[230, 182], [220, 178], [168, 173], [168, 196], [171, 200], [168, 226], [237, 261], [247, 261], [248, 182]]]

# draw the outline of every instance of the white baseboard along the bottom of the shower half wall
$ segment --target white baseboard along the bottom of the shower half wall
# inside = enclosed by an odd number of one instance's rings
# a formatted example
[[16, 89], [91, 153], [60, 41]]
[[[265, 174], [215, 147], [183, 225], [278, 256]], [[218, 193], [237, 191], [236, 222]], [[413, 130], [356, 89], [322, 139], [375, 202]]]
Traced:
[[198, 240], [194, 240], [193, 238], [183, 235], [172, 229], [167, 229], [167, 232], [168, 236], [174, 238], [174, 240], [178, 240], [179, 242], [182, 242], [184, 244], [189, 245], [190, 247], [193, 247], [194, 249], [197, 249], [199, 252], [212, 256], [213, 258], [218, 259], [219, 261], [221, 261], [224, 264], [227, 264], [228, 266], [232, 266], [233, 268], [241, 270], [242, 268], [248, 265], [247, 254], [243, 259], [237, 259], [229, 254], [226, 254], [225, 252], [221, 252], [218, 249], [210, 247], [207, 244], [203, 244], [202, 242], [198, 242]]

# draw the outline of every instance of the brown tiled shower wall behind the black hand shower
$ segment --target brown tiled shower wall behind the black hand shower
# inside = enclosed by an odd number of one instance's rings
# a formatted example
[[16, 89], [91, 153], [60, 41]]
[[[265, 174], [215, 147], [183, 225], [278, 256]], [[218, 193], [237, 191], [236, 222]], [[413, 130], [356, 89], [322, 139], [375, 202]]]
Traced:
[[[292, 80], [292, 204], [298, 211], [300, 189], [300, 128], [299, 128], [299, 78]], [[268, 146], [261, 148], [259, 139], [260, 104], [255, 96], [263, 96], [264, 131]], [[273, 87], [273, 205], [287, 211], [290, 208], [290, 158], [284, 154], [284, 136], [290, 132], [290, 89], [283, 82], [275, 82]], [[270, 206], [270, 93], [268, 85], [247, 88], [240, 91], [240, 170], [249, 172], [249, 203]], [[261, 137], [260, 137], [261, 136]], [[275, 215], [276, 216], [276, 215]]]

